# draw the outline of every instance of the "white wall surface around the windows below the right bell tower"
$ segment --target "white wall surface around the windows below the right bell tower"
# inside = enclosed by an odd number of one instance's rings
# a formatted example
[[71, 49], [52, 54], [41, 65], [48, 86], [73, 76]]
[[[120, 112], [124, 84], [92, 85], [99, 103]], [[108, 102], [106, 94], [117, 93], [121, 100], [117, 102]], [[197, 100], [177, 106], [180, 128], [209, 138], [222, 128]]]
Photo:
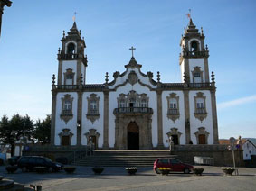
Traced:
[[[201, 122], [194, 116], [194, 96], [196, 93], [202, 92], [206, 96], [205, 105], [207, 117]], [[190, 132], [191, 140], [196, 143], [196, 137], [194, 132], [198, 131], [199, 127], [204, 127], [205, 131], [209, 132], [208, 144], [213, 144], [213, 114], [212, 114], [212, 103], [211, 103], [211, 93], [209, 90], [204, 91], [189, 91], [189, 108], [190, 108]]]

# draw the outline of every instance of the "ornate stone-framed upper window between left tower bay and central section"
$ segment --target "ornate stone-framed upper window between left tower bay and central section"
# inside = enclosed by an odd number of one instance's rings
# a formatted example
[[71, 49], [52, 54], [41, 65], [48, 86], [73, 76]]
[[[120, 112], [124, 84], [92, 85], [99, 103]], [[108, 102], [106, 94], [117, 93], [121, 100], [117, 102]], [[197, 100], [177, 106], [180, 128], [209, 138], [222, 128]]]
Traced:
[[96, 94], [90, 94], [90, 97], [87, 97], [88, 108], [86, 117], [91, 123], [94, 123], [95, 120], [100, 118], [99, 101], [100, 96], [97, 96]]

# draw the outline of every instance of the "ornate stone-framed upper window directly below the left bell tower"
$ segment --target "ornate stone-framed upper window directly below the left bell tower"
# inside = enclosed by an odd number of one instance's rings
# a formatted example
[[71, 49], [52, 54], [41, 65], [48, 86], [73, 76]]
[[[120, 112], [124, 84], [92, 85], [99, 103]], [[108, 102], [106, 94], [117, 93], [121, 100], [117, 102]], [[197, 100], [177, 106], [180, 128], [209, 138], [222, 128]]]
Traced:
[[73, 118], [72, 114], [72, 105], [73, 105], [73, 97], [71, 95], [66, 94], [62, 97], [62, 113], [60, 115], [61, 119], [68, 123]]

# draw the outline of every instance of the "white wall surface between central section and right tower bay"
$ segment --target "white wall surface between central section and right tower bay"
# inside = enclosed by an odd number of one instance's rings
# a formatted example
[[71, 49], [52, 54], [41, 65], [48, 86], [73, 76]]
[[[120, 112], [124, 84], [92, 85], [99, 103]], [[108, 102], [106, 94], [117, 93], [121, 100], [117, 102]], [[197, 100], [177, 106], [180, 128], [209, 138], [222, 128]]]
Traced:
[[[173, 122], [173, 120], [167, 117], [168, 102], [167, 96], [170, 96], [171, 93], [175, 93], [176, 96], [179, 96], [179, 112], [180, 117]], [[184, 94], [182, 91], [164, 91], [162, 93], [162, 108], [163, 108], [163, 142], [165, 147], [169, 146], [167, 132], [170, 132], [172, 128], [177, 128], [181, 132], [180, 144], [185, 144], [185, 106], [184, 106]]]

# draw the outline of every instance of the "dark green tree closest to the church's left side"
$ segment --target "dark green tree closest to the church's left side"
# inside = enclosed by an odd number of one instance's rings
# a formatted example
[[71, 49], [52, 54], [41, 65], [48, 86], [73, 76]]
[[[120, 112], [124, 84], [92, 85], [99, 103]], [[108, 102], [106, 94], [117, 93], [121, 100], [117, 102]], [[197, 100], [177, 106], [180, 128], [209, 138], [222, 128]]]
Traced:
[[37, 120], [33, 132], [33, 138], [42, 144], [50, 143], [51, 141], [51, 115], [47, 115], [41, 122]]

